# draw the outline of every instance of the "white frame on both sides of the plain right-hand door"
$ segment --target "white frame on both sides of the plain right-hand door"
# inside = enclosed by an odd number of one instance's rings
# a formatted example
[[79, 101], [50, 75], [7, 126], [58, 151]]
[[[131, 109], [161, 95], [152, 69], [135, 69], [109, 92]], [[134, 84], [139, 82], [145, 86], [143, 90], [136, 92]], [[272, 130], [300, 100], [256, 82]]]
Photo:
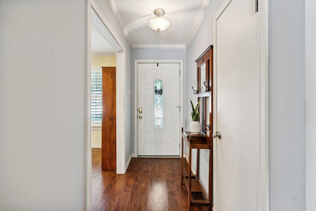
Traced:
[[[213, 67], [213, 108], [217, 111], [217, 48], [216, 48], [216, 21], [222, 15], [223, 11], [229, 5], [232, 0], [225, 0], [222, 6], [219, 8], [213, 19], [213, 37], [214, 37], [214, 67]], [[259, 36], [260, 36], [260, 73], [259, 73], [259, 163], [260, 163], [260, 179], [257, 187], [261, 189], [260, 193], [257, 193], [258, 211], [269, 211], [269, 34], [268, 34], [268, 0], [258, 0], [259, 8]], [[214, 131], [217, 131], [217, 113], [214, 112], [213, 124]], [[218, 210], [218, 184], [217, 184], [217, 138], [213, 140], [213, 200], [214, 211]]]

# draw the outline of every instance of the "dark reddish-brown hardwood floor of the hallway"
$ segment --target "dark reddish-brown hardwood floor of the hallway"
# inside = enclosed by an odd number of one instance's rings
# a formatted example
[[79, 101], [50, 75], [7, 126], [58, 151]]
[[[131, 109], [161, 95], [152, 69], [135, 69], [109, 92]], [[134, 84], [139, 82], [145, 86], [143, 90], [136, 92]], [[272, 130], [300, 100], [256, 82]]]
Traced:
[[92, 211], [188, 211], [180, 164], [180, 158], [133, 158], [126, 174], [116, 174], [101, 170], [101, 149], [92, 148]]

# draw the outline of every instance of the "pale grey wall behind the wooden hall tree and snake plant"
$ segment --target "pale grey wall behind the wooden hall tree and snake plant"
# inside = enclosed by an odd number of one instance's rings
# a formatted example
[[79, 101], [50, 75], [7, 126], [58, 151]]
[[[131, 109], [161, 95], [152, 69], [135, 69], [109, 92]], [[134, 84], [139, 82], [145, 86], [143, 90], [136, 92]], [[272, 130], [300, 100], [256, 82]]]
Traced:
[[[195, 60], [200, 56], [204, 50], [213, 44], [213, 17], [223, 0], [211, 0], [204, 14], [204, 18], [195, 34], [194, 38], [187, 46], [187, 72], [186, 81], [184, 84], [184, 130], [190, 130], [191, 122], [191, 105], [190, 100], [197, 102], [197, 96], [193, 93], [192, 86], [197, 87], [197, 63]], [[208, 169], [209, 169], [209, 152], [208, 150], [200, 150], [200, 179], [204, 189], [208, 193]], [[192, 164], [196, 169], [196, 151], [192, 153]]]

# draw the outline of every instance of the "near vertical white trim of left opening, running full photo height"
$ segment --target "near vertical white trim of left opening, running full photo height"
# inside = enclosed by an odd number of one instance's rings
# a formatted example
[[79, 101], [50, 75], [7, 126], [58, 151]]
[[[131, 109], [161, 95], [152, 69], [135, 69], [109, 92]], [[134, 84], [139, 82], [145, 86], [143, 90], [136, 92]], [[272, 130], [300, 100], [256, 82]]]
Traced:
[[85, 42], [85, 61], [86, 61], [86, 87], [85, 87], [85, 151], [86, 151], [86, 211], [91, 211], [91, 173], [92, 173], [92, 154], [91, 154], [91, 1], [86, 0], [86, 18], [85, 18], [85, 27], [86, 27], [86, 42]]

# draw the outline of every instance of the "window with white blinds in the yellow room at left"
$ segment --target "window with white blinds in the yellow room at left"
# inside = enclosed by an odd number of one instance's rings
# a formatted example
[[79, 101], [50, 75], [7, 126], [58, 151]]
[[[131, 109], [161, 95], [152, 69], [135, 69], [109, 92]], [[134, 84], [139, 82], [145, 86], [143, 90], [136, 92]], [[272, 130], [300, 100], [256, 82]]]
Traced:
[[102, 122], [102, 69], [91, 70], [91, 123]]

